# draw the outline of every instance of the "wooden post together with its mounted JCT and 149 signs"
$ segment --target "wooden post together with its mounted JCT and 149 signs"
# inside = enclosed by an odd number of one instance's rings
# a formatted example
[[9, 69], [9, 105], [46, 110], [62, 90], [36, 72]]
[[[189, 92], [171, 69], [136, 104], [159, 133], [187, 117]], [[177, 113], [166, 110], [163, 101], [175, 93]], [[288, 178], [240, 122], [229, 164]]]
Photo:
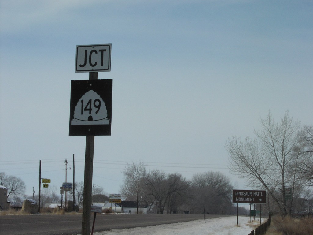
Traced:
[[86, 136], [82, 235], [90, 234], [95, 135], [111, 135], [112, 79], [94, 80], [110, 70], [111, 44], [76, 46], [75, 73], [89, 72], [89, 80], [71, 82], [69, 119], [69, 135]]

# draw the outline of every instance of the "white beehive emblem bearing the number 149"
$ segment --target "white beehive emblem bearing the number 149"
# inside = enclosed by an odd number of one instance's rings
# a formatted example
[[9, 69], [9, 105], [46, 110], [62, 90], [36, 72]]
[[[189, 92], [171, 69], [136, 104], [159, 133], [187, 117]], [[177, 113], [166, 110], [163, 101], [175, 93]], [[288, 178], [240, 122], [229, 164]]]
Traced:
[[86, 92], [77, 102], [71, 125], [109, 124], [105, 102], [93, 90]]

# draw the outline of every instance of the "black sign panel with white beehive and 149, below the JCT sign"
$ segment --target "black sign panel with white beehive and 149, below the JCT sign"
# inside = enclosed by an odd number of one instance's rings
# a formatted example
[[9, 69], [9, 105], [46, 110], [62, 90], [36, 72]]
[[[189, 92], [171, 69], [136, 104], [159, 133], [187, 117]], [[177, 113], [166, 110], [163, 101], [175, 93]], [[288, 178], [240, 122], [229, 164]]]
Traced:
[[69, 136], [111, 135], [112, 79], [72, 80]]

